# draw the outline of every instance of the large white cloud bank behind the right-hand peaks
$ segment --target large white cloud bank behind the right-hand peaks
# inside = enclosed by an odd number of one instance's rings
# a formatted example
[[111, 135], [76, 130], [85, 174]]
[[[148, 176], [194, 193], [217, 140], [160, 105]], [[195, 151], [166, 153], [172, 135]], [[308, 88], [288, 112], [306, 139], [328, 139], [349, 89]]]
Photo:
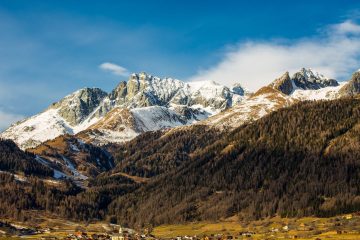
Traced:
[[189, 80], [213, 80], [228, 86], [240, 82], [255, 91], [285, 71], [294, 73], [302, 67], [335, 79], [350, 78], [360, 67], [360, 25], [348, 20], [327, 26], [313, 38], [240, 43], [220, 63]]

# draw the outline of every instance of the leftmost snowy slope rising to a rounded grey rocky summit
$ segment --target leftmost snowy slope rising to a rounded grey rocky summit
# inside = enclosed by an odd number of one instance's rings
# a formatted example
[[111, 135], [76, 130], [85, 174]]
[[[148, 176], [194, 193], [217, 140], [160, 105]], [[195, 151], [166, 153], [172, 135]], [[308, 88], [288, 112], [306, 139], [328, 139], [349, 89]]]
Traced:
[[26, 149], [62, 134], [73, 134], [86, 129], [92, 124], [86, 118], [105, 95], [98, 88], [80, 89], [53, 103], [44, 112], [13, 124], [1, 137], [12, 139]]

